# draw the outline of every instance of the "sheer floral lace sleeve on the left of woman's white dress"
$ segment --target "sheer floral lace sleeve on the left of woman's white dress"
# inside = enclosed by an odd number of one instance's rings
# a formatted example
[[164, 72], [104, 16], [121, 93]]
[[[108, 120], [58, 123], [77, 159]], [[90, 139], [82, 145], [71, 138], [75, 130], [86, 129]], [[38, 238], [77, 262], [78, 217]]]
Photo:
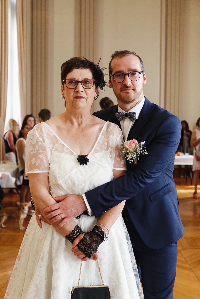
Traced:
[[26, 139], [25, 169], [26, 176], [28, 173], [49, 172], [48, 144], [40, 138], [35, 127], [28, 133]]

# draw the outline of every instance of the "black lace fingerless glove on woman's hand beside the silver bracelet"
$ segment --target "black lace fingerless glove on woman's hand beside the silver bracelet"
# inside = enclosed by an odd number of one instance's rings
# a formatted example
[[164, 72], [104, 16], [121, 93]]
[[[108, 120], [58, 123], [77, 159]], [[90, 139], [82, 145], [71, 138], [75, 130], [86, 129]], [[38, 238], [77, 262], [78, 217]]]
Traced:
[[78, 243], [77, 247], [82, 251], [89, 259], [97, 252], [99, 245], [104, 240], [104, 231], [100, 226], [94, 226], [91, 231], [85, 233], [82, 240]]

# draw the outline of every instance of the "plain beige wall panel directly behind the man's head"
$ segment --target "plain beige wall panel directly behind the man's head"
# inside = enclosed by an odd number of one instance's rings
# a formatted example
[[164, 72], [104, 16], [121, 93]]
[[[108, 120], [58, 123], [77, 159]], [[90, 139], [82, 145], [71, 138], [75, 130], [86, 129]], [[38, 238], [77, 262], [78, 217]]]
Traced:
[[[159, 105], [160, 93], [160, 0], [103, 0], [103, 53], [101, 65], [108, 68], [116, 50], [136, 52], [143, 60], [147, 84], [145, 96]], [[108, 69], [106, 70], [108, 74]], [[106, 88], [101, 97], [116, 97]]]

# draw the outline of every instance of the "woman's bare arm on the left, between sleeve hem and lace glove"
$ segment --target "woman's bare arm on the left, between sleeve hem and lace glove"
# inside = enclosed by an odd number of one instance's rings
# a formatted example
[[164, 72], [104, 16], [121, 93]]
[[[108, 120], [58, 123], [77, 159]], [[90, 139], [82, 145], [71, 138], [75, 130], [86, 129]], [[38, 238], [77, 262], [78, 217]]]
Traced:
[[[33, 202], [39, 208], [41, 214], [45, 217], [47, 214], [43, 213], [43, 210], [50, 205], [56, 203], [56, 201], [50, 195], [49, 182], [48, 182], [48, 173], [34, 173], [28, 175], [29, 185], [31, 190], [31, 196]], [[52, 224], [53, 228], [56, 229], [63, 237], [69, 234], [75, 226], [76, 222], [72, 219], [64, 224], [61, 228], [56, 228], [58, 223], [61, 222], [62, 219], [54, 222]]]

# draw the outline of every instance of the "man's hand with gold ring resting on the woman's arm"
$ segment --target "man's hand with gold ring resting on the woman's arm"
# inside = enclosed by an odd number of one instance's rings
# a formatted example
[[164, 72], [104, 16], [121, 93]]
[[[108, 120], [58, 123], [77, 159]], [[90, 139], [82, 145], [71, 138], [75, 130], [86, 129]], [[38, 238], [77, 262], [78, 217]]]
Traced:
[[[61, 228], [66, 222], [79, 216], [87, 207], [85, 205], [84, 199], [81, 196], [66, 194], [58, 197], [53, 197], [58, 203], [49, 206], [43, 210], [43, 213], [49, 213], [46, 215], [45, 219], [48, 220], [49, 224], [52, 224], [63, 218], [63, 220], [56, 226], [56, 228]], [[60, 217], [60, 215], [61, 217]]]

